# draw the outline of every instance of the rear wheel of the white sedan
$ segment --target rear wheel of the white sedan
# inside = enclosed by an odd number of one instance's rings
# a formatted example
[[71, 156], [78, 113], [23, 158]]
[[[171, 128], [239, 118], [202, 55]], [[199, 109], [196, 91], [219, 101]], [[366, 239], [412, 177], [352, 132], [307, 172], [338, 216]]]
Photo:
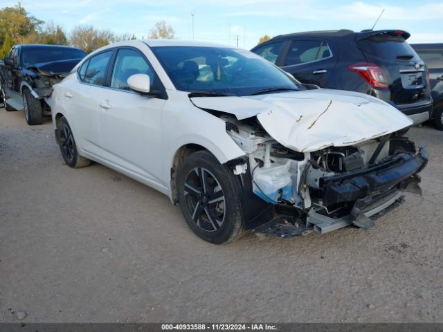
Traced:
[[69, 127], [69, 123], [64, 117], [57, 122], [57, 141], [60, 145], [63, 160], [69, 167], [80, 168], [91, 163], [89, 159], [78, 154], [71, 127]]

